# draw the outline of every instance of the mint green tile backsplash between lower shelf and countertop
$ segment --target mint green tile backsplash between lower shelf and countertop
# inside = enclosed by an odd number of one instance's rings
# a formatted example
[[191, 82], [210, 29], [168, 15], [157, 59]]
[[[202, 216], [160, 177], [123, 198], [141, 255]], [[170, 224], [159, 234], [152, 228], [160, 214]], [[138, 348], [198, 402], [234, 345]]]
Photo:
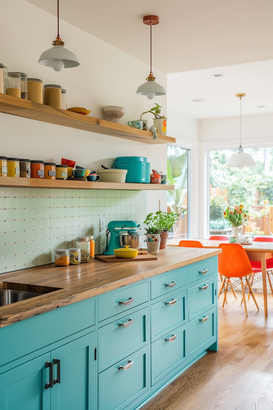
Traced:
[[94, 235], [98, 253], [100, 218], [146, 215], [146, 191], [0, 187], [0, 273], [52, 263], [78, 235]]

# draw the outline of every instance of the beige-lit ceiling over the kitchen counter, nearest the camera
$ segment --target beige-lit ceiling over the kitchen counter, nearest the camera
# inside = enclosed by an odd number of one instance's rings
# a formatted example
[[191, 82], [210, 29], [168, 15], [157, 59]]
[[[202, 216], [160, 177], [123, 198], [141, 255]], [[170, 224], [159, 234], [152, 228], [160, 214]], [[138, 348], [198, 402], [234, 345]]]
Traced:
[[[56, 0], [28, 0], [57, 15]], [[272, 0], [60, 0], [60, 18], [164, 73], [273, 59]], [[61, 35], [61, 25], [60, 25]], [[68, 43], [68, 39], [65, 39]]]

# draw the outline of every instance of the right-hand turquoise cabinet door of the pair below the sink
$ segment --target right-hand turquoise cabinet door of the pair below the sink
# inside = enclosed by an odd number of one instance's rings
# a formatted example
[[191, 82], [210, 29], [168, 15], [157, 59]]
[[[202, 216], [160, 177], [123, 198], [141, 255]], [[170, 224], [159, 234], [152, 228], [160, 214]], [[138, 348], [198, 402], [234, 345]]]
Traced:
[[[51, 410], [95, 408], [95, 332], [51, 352], [53, 377]], [[58, 379], [58, 366], [59, 376]], [[55, 381], [55, 380], [54, 380]]]

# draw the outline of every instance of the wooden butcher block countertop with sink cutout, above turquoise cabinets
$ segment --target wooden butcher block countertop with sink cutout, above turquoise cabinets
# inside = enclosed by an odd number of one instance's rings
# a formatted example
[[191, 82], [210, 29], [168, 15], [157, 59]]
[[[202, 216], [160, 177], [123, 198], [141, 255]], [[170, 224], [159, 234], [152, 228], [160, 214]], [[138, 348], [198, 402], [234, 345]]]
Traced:
[[221, 249], [168, 247], [160, 250], [156, 254], [158, 260], [153, 261], [106, 264], [95, 259], [78, 266], [48, 264], [3, 273], [0, 289], [28, 290], [43, 295], [1, 306], [0, 327], [199, 262], [220, 252]]

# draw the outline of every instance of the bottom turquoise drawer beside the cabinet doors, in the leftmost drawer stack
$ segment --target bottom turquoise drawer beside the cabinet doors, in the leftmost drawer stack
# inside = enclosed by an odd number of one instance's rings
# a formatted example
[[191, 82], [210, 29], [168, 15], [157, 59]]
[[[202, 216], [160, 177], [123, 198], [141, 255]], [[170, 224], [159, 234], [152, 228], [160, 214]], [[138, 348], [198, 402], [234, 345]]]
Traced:
[[[149, 388], [149, 348], [143, 347], [99, 374], [99, 410], [122, 410]], [[133, 362], [128, 370], [124, 367]]]

